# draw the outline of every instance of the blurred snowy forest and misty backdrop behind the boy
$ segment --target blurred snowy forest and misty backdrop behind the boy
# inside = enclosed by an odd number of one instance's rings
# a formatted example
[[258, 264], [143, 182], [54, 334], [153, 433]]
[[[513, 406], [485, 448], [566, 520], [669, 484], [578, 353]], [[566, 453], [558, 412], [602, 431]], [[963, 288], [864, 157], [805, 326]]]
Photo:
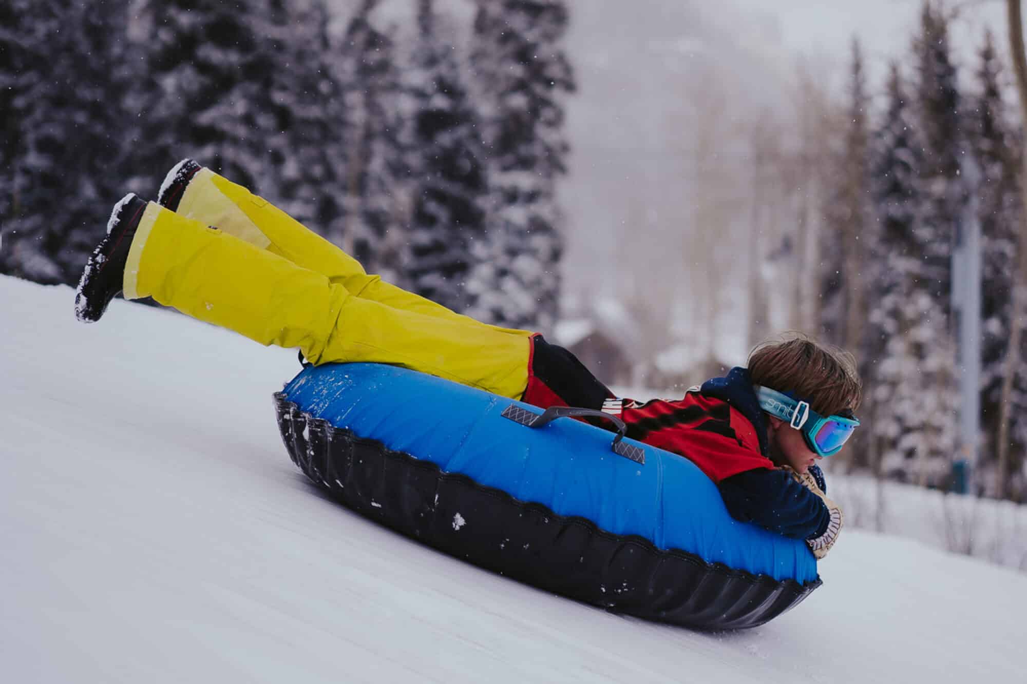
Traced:
[[853, 36], [816, 62], [737, 7], [598, 4], [7, 0], [0, 273], [74, 283], [111, 205], [192, 156], [369, 270], [540, 330], [618, 387], [680, 393], [788, 329], [838, 344], [867, 427], [834, 470], [944, 492], [969, 206], [969, 489], [1024, 502], [1027, 347], [1007, 353], [1024, 136], [1004, 27], [967, 38], [974, 9], [911, 0], [901, 48]]

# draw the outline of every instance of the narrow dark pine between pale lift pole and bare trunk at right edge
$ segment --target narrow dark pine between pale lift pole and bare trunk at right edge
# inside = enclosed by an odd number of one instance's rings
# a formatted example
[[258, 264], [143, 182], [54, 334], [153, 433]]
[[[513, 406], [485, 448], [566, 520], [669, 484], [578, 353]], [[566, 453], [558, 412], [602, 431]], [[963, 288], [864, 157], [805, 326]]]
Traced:
[[[978, 191], [983, 252], [981, 425], [986, 442], [980, 453], [986, 492], [994, 494], [997, 487], [993, 456], [998, 451], [994, 442], [998, 433], [1000, 387], [1010, 339], [1010, 292], [1016, 268], [1016, 233], [1023, 211], [1018, 178], [1022, 141], [1010, 122], [1002, 100], [1002, 66], [995, 52], [991, 32], [985, 34], [979, 60], [978, 92], [971, 101], [968, 137], [982, 176]], [[1013, 421], [1010, 434], [1015, 448], [1011, 450], [1014, 467], [1010, 470], [1016, 473], [1020, 471], [1017, 466], [1027, 446], [1027, 434], [1024, 433], [1027, 420], [1022, 418], [1027, 415], [1027, 404], [1024, 403], [1027, 400], [1027, 368], [1018, 373], [1014, 387], [1012, 400], [1016, 406], [1010, 412]], [[1018, 489], [1023, 489], [1023, 476], [1020, 474], [1019, 479]]]

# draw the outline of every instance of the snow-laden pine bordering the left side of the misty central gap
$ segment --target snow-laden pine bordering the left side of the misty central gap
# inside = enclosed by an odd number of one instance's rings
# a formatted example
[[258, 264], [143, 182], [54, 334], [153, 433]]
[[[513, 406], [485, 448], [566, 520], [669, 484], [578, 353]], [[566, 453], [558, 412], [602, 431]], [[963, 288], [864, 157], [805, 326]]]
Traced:
[[564, 0], [476, 0], [471, 63], [481, 91], [492, 192], [488, 242], [468, 280], [471, 313], [546, 329], [557, 315], [563, 252], [556, 180], [566, 173], [562, 99], [574, 77], [560, 41]]

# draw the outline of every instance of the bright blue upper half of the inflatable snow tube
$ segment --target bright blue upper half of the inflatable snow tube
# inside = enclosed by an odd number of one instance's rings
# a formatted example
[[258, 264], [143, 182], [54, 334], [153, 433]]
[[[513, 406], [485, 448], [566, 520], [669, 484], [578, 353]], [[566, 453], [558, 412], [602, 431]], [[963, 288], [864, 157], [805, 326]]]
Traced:
[[615, 454], [604, 429], [566, 418], [525, 427], [500, 413], [510, 404], [539, 409], [392, 366], [307, 368], [283, 393], [303, 412], [357, 436], [560, 516], [778, 580], [816, 579], [804, 542], [733, 519], [713, 482], [676, 454], [625, 440], [645, 451], [640, 465]]

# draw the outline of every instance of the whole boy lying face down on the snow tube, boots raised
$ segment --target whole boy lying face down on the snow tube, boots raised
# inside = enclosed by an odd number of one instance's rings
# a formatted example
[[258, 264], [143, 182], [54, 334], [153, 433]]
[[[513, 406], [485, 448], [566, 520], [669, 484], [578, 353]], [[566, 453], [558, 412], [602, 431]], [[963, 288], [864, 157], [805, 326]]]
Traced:
[[315, 365], [392, 364], [543, 409], [602, 409], [627, 424], [629, 436], [695, 462], [734, 518], [805, 539], [817, 558], [841, 529], [815, 462], [837, 453], [859, 424], [851, 411], [860, 382], [850, 357], [804, 338], [757, 348], [748, 369], [681, 401], [616, 398], [566, 349], [367, 274], [267, 200], [191, 159], [168, 173], [157, 202], [129, 194], [114, 207], [83, 271], [76, 315], [99, 320], [119, 292], [265, 345], [299, 347]]

